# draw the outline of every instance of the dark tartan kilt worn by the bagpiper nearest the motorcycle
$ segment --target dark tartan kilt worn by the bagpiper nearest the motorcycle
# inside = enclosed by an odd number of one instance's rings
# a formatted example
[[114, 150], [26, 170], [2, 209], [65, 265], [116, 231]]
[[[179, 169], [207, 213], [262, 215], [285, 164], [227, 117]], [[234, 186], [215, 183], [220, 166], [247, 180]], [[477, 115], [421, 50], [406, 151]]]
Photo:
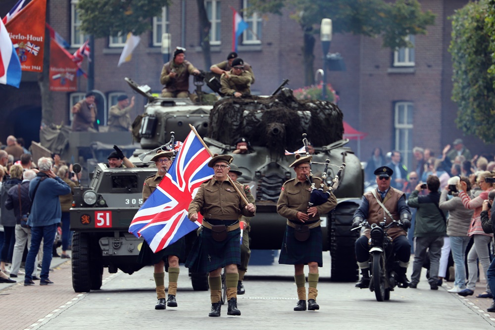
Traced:
[[294, 228], [286, 226], [279, 264], [307, 265], [308, 262], [317, 262], [318, 267], [323, 267], [321, 226], [311, 228], [309, 238], [304, 242], [298, 241], [294, 232]]

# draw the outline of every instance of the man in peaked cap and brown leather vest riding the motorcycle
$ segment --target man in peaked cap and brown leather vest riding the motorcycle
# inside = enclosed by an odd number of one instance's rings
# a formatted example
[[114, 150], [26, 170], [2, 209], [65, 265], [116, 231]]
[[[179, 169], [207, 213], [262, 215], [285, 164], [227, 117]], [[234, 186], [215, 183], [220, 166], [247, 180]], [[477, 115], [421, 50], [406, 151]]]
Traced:
[[[405, 194], [390, 187], [390, 180], [394, 174], [390, 167], [379, 167], [374, 174], [376, 175], [378, 188], [363, 195], [361, 206], [354, 213], [352, 227], [356, 228], [363, 222], [363, 219], [367, 219], [370, 225], [378, 224], [385, 219], [385, 223], [388, 225], [392, 222], [392, 219], [398, 220], [400, 218], [403, 228], [391, 227], [386, 231], [394, 241], [394, 253], [399, 260], [399, 268], [396, 270], [397, 281], [407, 287], [410, 285], [406, 277], [406, 271], [411, 256], [411, 245], [407, 240], [407, 233], [404, 229], [411, 227], [411, 210], [407, 206]], [[361, 281], [355, 285], [359, 288], [367, 288], [370, 284], [369, 238], [370, 229], [367, 228], [363, 236], [359, 237], [355, 243], [357, 265], [361, 269], [362, 275]]]

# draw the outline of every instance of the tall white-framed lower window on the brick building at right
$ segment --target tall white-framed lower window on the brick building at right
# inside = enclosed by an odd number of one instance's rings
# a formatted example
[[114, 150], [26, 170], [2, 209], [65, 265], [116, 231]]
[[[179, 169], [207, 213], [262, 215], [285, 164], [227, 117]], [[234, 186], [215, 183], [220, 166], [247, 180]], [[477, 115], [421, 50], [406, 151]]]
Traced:
[[413, 103], [396, 102], [394, 115], [395, 149], [402, 155], [402, 164], [411, 168], [412, 164], [412, 129]]

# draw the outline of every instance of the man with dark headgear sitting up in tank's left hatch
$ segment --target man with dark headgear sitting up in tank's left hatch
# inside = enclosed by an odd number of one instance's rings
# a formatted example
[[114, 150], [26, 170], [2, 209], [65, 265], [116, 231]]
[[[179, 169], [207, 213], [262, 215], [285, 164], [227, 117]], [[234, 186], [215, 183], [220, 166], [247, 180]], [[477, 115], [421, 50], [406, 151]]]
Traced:
[[163, 65], [160, 84], [165, 86], [161, 90], [161, 97], [189, 97], [189, 76], [200, 72], [185, 60], [185, 51], [185, 48], [176, 47], [174, 58]]

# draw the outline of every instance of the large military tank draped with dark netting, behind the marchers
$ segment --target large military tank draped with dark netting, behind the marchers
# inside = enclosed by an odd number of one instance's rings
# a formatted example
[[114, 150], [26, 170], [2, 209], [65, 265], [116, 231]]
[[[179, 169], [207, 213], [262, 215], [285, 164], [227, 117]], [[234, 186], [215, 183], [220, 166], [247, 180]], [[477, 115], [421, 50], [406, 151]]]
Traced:
[[[335, 190], [338, 205], [322, 216], [323, 250], [331, 254], [332, 281], [353, 282], [358, 278], [354, 253], [356, 233], [351, 232], [352, 215], [363, 194], [364, 174], [361, 163], [343, 139], [343, 113], [327, 101], [297, 100], [287, 88], [277, 89], [271, 96], [227, 97], [214, 106], [197, 105], [189, 99], [162, 99], [148, 93], [149, 88], [127, 82], [136, 92], [148, 98], [148, 104], [135, 130], [135, 139], [142, 149], [135, 151], [132, 161], [146, 166], [153, 150], [164, 147], [175, 135], [184, 141], [193, 125], [200, 136], [218, 154], [232, 154], [243, 175], [239, 181], [248, 184], [256, 199], [256, 216], [251, 220], [251, 249], [280, 249], [286, 221], [276, 212], [276, 203], [283, 183], [295, 176], [289, 165], [295, 151], [302, 146], [302, 134], [315, 149], [313, 173], [321, 176], [330, 159], [327, 183], [330, 184], [342, 163], [346, 164]], [[235, 154], [235, 141], [244, 137], [249, 152]], [[148, 155], [146, 155], [148, 153]]]

